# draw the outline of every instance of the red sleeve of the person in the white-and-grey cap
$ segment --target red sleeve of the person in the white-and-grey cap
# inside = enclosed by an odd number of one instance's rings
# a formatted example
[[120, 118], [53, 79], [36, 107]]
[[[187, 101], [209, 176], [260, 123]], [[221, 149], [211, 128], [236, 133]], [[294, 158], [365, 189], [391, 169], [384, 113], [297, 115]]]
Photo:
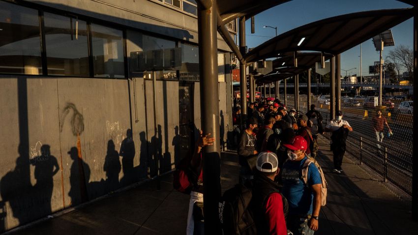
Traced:
[[265, 219], [269, 225], [270, 235], [286, 235], [286, 221], [283, 214], [283, 199], [280, 194], [272, 193], [265, 206]]

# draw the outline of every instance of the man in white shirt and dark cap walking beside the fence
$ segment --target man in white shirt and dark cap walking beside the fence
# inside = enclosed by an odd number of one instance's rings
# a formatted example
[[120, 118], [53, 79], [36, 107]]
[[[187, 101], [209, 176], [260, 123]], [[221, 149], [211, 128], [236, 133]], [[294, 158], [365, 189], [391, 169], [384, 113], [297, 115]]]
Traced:
[[346, 149], [346, 140], [349, 131], [353, 131], [348, 121], [343, 120], [343, 113], [337, 111], [335, 119], [329, 121], [325, 127], [326, 132], [331, 132], [331, 150], [333, 154], [334, 169], [332, 172], [341, 173], [341, 165]]

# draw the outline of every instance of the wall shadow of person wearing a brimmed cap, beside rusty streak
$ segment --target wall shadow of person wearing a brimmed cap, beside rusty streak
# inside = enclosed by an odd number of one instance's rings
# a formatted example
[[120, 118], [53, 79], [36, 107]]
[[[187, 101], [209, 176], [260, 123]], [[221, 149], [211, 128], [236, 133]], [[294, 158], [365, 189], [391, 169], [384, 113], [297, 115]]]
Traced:
[[71, 198], [71, 205], [74, 206], [88, 201], [88, 195], [83, 192], [87, 192], [87, 184], [90, 181], [90, 167], [83, 159], [78, 158], [77, 147], [71, 147], [68, 154], [73, 160], [70, 169], [71, 188], [68, 196]]

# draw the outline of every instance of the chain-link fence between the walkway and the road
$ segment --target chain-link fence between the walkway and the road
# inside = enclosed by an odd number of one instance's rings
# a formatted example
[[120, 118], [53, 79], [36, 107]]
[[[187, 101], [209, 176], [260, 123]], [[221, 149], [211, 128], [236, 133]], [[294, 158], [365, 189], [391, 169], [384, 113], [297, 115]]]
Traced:
[[[283, 94], [280, 94], [279, 98], [284, 102]], [[370, 175], [377, 176], [378, 180], [384, 182], [389, 181], [408, 195], [412, 195], [413, 116], [408, 112], [412, 111], [412, 108], [404, 107], [412, 107], [412, 103], [405, 105], [408, 100], [392, 100], [393, 105], [383, 109], [383, 117], [388, 120], [392, 135], [385, 126], [383, 140], [379, 142], [372, 122], [378, 109], [370, 107], [364, 100], [348, 100], [350, 101], [341, 100], [343, 119], [353, 127], [347, 138], [347, 152], [359, 165], [366, 165], [367, 169], [364, 169]], [[319, 97], [312, 97], [311, 103], [321, 112], [325, 127], [330, 117], [329, 104]], [[287, 106], [295, 107], [293, 94], [287, 95]], [[299, 113], [306, 114], [307, 111], [307, 97], [299, 95]], [[325, 137], [329, 139], [329, 133], [326, 133]], [[369, 172], [370, 169], [373, 172]]]

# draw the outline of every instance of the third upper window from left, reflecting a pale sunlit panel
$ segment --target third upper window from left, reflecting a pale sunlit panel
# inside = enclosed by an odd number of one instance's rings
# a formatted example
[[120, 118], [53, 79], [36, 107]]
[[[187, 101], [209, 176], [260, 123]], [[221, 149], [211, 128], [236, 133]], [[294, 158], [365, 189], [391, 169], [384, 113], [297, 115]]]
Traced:
[[124, 78], [123, 32], [91, 24], [94, 77]]

